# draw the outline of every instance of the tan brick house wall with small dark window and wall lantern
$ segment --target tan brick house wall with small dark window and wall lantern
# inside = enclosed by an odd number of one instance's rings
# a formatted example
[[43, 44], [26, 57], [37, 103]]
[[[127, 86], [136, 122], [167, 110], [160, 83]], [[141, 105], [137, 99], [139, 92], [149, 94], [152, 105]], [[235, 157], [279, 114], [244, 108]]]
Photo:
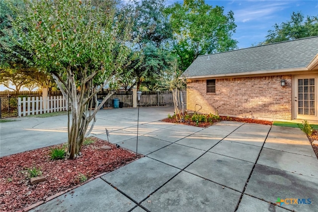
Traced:
[[[281, 87], [280, 80], [286, 80]], [[207, 93], [206, 80], [187, 83], [187, 110], [263, 120], [291, 120], [292, 76], [216, 79]], [[199, 104], [200, 106], [196, 106]]]

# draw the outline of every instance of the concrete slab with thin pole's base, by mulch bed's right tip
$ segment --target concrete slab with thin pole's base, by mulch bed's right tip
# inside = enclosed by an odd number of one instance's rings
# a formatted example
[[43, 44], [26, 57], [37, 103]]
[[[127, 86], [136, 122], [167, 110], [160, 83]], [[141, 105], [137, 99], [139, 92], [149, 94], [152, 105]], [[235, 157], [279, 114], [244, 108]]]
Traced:
[[[132, 138], [118, 144], [126, 149], [136, 152], [137, 138]], [[148, 155], [169, 144], [171, 143], [167, 141], [141, 135], [138, 136], [138, 153]]]

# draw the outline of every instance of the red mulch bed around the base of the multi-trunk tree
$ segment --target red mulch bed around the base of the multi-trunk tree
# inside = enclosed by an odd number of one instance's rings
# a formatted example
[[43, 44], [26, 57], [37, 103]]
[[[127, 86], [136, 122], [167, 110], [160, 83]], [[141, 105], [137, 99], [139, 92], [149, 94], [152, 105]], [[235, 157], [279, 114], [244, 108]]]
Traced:
[[[54, 145], [0, 158], [0, 211], [16, 211], [80, 184], [79, 173], [87, 179], [115, 170], [136, 159], [136, 154], [92, 137], [94, 143], [83, 146], [75, 160], [50, 160]], [[100, 150], [108, 145], [111, 150]], [[139, 156], [140, 157], [140, 156]], [[31, 185], [27, 168], [40, 167], [46, 181]], [[11, 181], [11, 182], [9, 182]]]

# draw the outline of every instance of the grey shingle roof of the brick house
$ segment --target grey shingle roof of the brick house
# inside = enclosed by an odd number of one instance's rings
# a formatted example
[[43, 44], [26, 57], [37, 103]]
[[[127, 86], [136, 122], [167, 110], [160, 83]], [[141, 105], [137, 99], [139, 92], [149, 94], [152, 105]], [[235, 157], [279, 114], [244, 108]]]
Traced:
[[229, 76], [306, 68], [317, 54], [318, 36], [201, 55], [185, 70], [182, 77]]

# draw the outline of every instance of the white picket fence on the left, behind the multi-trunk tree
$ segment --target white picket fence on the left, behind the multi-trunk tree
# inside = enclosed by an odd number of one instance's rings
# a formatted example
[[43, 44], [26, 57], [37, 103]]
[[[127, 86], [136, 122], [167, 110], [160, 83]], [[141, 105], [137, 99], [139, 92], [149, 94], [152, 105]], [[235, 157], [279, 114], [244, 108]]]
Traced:
[[35, 115], [66, 110], [66, 100], [63, 96], [48, 98], [28, 97], [18, 98], [18, 116]]

